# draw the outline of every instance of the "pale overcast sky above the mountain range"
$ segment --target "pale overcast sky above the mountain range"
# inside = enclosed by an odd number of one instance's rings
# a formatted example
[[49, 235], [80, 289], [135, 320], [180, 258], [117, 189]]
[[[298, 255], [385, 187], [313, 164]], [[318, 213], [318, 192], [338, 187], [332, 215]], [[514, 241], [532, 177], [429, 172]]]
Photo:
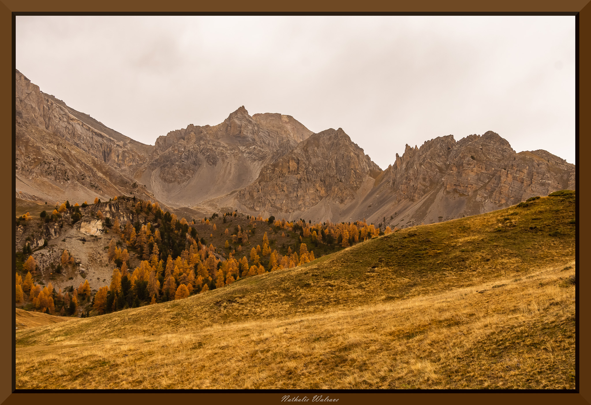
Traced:
[[17, 16], [16, 34], [41, 91], [146, 144], [244, 105], [343, 128], [382, 169], [489, 130], [574, 163], [571, 16]]

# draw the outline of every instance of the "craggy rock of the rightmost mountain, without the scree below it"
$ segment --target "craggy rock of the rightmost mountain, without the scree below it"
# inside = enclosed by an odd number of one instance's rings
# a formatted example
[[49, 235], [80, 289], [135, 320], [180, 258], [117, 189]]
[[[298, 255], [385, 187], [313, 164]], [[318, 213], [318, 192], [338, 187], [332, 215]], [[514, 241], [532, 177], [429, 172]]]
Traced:
[[574, 164], [538, 150], [515, 153], [492, 131], [456, 142], [452, 135], [396, 155], [391, 187], [397, 201], [418, 200], [438, 184], [480, 202], [514, 205], [531, 196], [574, 189]]

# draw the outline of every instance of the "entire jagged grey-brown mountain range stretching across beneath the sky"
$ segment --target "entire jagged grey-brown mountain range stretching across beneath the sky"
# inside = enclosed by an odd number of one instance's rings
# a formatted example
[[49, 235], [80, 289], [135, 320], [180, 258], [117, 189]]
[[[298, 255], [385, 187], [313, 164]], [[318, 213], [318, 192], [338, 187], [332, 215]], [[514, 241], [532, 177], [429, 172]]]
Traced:
[[[492, 131], [459, 141], [453, 135], [437, 137], [420, 148], [407, 145], [384, 171], [341, 128], [313, 134], [289, 115], [250, 116], [244, 106], [213, 127], [191, 124], [158, 137], [154, 146], [144, 145], [40, 92], [18, 70], [16, 74], [21, 134], [30, 131], [25, 128], [30, 122], [74, 145], [76, 153], [90, 155], [97, 161], [90, 166], [116, 168], [116, 174], [98, 171], [97, 179], [105, 180], [97, 193], [103, 198], [111, 192], [142, 193], [142, 198], [182, 210], [184, 216], [240, 209], [286, 219], [366, 218], [405, 227], [574, 189], [573, 164], [543, 150], [515, 153]], [[28, 187], [22, 198], [44, 199], [51, 189], [35, 172], [36, 164], [20, 160], [21, 179], [27, 177]], [[112, 176], [118, 180], [112, 182]], [[66, 179], [52, 196], [86, 192], [84, 184], [76, 189]], [[130, 180], [137, 189], [129, 187]], [[17, 191], [24, 190], [21, 183], [17, 181]]]

